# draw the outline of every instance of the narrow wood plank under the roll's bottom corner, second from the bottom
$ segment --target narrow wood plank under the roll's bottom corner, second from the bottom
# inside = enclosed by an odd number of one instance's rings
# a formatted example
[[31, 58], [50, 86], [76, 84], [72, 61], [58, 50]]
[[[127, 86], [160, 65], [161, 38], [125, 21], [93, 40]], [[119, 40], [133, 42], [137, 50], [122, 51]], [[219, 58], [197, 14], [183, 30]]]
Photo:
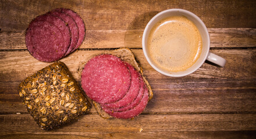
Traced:
[[[56, 131], [72, 132], [144, 132], [158, 131], [229, 131], [256, 130], [256, 114], [140, 115], [133, 120], [103, 119], [99, 115], [83, 115]], [[0, 115], [0, 133], [49, 133], [42, 131], [29, 114]]]

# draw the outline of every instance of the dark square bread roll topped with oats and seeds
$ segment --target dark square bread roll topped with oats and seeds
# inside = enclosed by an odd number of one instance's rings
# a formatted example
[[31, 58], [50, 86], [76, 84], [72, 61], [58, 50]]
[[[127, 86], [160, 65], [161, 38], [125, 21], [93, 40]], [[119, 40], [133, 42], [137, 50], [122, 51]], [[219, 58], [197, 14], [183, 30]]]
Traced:
[[65, 125], [91, 107], [62, 62], [48, 65], [24, 79], [19, 85], [19, 96], [44, 130]]

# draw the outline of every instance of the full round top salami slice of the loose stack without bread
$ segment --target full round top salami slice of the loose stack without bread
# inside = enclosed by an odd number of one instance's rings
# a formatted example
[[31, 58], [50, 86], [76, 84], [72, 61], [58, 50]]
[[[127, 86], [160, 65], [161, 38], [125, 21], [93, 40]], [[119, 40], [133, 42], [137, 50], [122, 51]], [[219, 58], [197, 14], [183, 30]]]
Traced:
[[25, 42], [30, 54], [40, 61], [59, 60], [67, 51], [63, 34], [47, 21], [32, 21], [27, 28]]

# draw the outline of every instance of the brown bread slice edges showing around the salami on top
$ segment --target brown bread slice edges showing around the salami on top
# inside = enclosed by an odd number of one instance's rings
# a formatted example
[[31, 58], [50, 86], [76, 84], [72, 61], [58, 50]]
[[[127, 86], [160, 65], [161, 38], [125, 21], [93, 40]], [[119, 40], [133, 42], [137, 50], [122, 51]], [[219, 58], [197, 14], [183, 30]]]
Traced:
[[[150, 101], [153, 97], [153, 92], [151, 89], [150, 84], [148, 83], [147, 79], [145, 79], [145, 76], [143, 75], [143, 69], [141, 68], [141, 66], [137, 63], [133, 52], [131, 52], [130, 49], [128, 48], [120, 48], [120, 49], [116, 49], [113, 52], [106, 52], [105, 54], [113, 54], [114, 56], [119, 57], [121, 60], [126, 61], [127, 63], [130, 63], [131, 65], [133, 65], [133, 67], [140, 72], [141, 76], [143, 77], [143, 80], [145, 82], [145, 84], [147, 85], [148, 88], [148, 101]], [[86, 64], [86, 63], [84, 63]], [[82, 65], [84, 67], [84, 64]], [[88, 100], [94, 104], [95, 108], [98, 111], [98, 114], [101, 115], [102, 118], [105, 119], [109, 119], [109, 118], [113, 118], [111, 115], [106, 114], [106, 112], [101, 108], [101, 105], [98, 104], [97, 102], [90, 100], [90, 98], [88, 98]]]

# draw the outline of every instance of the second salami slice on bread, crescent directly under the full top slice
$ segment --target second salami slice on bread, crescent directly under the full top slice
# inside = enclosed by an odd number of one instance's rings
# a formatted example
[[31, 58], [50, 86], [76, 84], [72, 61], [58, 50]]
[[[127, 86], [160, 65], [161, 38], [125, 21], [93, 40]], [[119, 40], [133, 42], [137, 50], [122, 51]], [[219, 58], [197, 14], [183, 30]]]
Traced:
[[121, 100], [116, 101], [115, 103], [111, 104], [102, 104], [102, 107], [106, 108], [121, 108], [129, 105], [134, 101], [134, 99], [138, 96], [138, 92], [140, 91], [140, 75], [134, 69], [132, 65], [129, 63], [126, 63], [127, 67], [130, 70], [131, 74], [131, 85], [129, 88], [129, 91], [126, 93], [125, 97], [123, 97]]

